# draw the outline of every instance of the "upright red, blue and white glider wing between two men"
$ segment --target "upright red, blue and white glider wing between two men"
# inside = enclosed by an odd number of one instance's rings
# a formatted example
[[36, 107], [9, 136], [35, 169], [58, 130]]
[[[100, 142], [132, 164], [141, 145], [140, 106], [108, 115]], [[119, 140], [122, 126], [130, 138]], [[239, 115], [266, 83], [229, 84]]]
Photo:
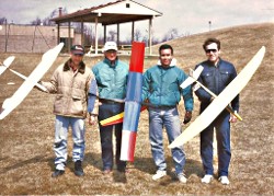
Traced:
[[137, 128], [141, 107], [141, 85], [145, 57], [145, 43], [133, 43], [125, 100], [121, 160], [134, 161]]

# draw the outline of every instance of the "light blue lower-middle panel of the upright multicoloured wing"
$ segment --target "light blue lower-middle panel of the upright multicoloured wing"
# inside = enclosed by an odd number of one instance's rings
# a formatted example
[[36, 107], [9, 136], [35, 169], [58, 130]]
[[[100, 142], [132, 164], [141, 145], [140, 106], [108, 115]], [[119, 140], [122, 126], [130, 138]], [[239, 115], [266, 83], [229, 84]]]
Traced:
[[123, 130], [137, 131], [138, 120], [140, 116], [140, 103], [128, 101], [125, 104], [125, 113], [123, 120]]

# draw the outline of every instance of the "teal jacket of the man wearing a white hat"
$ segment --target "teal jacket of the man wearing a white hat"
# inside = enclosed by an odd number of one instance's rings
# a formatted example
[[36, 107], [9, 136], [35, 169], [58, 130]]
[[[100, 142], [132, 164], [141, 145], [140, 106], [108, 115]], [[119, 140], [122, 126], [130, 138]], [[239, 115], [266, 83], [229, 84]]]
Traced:
[[104, 58], [96, 64], [92, 71], [98, 83], [99, 97], [125, 99], [128, 77], [128, 65], [116, 59], [114, 66]]

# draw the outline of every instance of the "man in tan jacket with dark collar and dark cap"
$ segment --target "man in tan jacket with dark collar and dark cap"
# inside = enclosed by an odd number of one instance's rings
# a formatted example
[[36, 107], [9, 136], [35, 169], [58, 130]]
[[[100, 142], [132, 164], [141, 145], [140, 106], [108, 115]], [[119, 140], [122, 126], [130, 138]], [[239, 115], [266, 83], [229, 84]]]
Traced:
[[[69, 126], [72, 129], [75, 174], [77, 176], [84, 174], [82, 169], [85, 149], [84, 118], [88, 111], [90, 114], [96, 114], [94, 108], [96, 81], [91, 70], [82, 61], [83, 54], [84, 50], [81, 45], [73, 45], [70, 58], [55, 70], [50, 81], [41, 82], [48, 93], [56, 94], [54, 103], [54, 114], [56, 115], [54, 142], [56, 169], [52, 175], [53, 177], [65, 173], [68, 157], [67, 138]], [[88, 101], [89, 108], [87, 107]], [[93, 120], [93, 115], [89, 115], [90, 124]]]

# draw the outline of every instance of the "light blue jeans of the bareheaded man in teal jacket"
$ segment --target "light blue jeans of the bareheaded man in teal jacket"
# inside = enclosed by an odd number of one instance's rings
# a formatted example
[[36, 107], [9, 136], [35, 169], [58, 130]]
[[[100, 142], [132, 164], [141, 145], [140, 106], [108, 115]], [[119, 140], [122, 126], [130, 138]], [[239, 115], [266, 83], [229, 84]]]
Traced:
[[[181, 135], [181, 123], [176, 107], [172, 108], [149, 108], [149, 140], [155, 164], [158, 170], [167, 170], [167, 163], [163, 151], [162, 128], [165, 127], [169, 143]], [[185, 154], [183, 147], [173, 148], [171, 150], [172, 159], [175, 164], [176, 174], [183, 173], [185, 164]]]

